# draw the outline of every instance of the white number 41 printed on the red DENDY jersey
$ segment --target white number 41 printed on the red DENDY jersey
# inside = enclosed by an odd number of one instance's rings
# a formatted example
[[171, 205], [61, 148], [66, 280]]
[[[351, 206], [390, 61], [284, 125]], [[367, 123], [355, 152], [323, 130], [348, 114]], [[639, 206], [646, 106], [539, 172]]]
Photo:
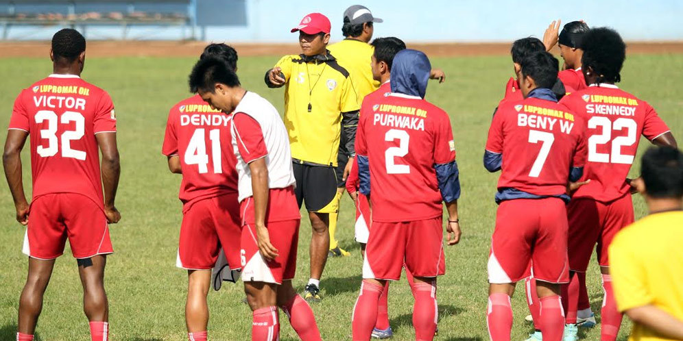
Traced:
[[[185, 150], [184, 162], [185, 164], [196, 164], [199, 167], [199, 173], [208, 173], [208, 154], [206, 154], [206, 140], [204, 135], [204, 128], [195, 129], [195, 132], [190, 138], [190, 143], [187, 144]], [[212, 129], [208, 132], [208, 138], [211, 140], [211, 162], [213, 162], [213, 173], [223, 173], [223, 165], [221, 163], [221, 131], [219, 129]]]

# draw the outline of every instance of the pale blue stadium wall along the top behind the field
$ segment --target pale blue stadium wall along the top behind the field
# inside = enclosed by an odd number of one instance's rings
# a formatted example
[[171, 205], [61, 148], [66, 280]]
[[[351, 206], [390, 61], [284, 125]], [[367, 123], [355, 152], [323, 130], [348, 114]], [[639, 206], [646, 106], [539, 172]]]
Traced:
[[[199, 0], [202, 1], [202, 0]], [[569, 2], [569, 1], [567, 1]], [[247, 0], [246, 25], [197, 28], [197, 38], [228, 42], [296, 42], [289, 33], [302, 16], [322, 12], [332, 21], [333, 40], [342, 38], [342, 13], [356, 0], [304, 1]], [[592, 26], [609, 26], [625, 40], [683, 40], [683, 1], [679, 0], [372, 0], [364, 5], [383, 18], [375, 36], [398, 36], [409, 42], [495, 42], [524, 36], [542, 36], [547, 25], [561, 18], [564, 23], [583, 19]], [[230, 15], [244, 15], [226, 11]], [[9, 38], [49, 39], [55, 27], [13, 27]], [[88, 27], [90, 39], [119, 38], [117, 27]], [[184, 31], [189, 36], [190, 30]], [[178, 39], [180, 27], [132, 27], [135, 39]]]

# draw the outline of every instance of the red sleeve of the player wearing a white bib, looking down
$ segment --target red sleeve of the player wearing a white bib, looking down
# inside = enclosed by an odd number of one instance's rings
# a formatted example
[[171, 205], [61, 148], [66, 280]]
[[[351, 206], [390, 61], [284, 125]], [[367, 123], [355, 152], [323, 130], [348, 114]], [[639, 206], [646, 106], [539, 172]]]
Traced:
[[261, 125], [252, 116], [236, 112], [232, 116], [232, 134], [235, 134], [237, 150], [244, 162], [250, 163], [268, 155]]

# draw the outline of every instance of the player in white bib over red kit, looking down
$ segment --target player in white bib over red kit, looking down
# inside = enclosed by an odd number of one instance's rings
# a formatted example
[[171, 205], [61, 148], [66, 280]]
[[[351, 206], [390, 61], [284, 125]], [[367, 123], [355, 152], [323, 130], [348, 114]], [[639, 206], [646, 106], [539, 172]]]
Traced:
[[291, 286], [301, 216], [280, 114], [263, 97], [241, 88], [237, 75], [221, 60], [197, 62], [190, 88], [213, 108], [234, 113], [231, 141], [239, 175], [240, 255], [253, 311], [252, 340], [279, 340], [278, 306], [302, 340], [320, 340], [311, 307]]

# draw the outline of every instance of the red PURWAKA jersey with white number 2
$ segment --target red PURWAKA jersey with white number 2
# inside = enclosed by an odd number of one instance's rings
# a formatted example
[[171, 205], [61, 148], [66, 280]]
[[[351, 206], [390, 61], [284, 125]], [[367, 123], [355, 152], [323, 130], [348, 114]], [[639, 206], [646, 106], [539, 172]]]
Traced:
[[420, 97], [368, 96], [356, 153], [370, 163], [372, 220], [424, 220], [443, 214], [435, 164], [455, 160], [448, 114]]

